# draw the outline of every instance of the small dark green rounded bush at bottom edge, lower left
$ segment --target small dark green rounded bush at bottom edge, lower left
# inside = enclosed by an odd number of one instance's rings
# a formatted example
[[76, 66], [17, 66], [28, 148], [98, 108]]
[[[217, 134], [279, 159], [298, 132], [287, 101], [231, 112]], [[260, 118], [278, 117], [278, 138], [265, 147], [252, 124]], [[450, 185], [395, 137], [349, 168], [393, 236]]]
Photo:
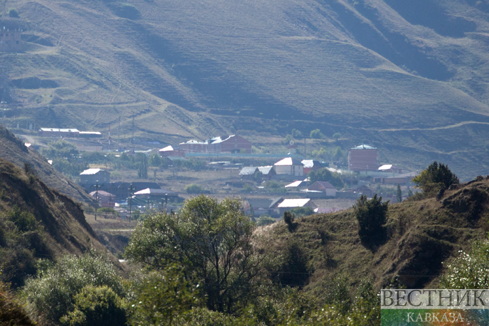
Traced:
[[61, 326], [120, 326], [127, 322], [124, 300], [108, 286], [85, 286], [74, 299], [74, 309], [61, 317]]

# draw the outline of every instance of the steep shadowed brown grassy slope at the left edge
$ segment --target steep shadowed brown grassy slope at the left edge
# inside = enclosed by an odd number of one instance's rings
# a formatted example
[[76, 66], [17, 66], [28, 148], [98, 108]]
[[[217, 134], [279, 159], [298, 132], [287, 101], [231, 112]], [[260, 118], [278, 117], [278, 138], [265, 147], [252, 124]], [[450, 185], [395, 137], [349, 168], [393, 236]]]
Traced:
[[80, 205], [46, 186], [35, 170], [0, 158], [1, 281], [22, 286], [36, 260], [105, 248], [85, 221]]

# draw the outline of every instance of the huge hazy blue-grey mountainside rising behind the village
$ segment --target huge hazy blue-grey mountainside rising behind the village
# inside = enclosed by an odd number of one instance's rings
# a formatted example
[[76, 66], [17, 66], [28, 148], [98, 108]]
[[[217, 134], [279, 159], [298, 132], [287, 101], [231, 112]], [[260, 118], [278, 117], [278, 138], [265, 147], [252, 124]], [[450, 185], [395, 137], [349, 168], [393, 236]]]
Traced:
[[320, 128], [407, 168], [436, 159], [469, 179], [489, 166], [486, 1], [4, 0], [0, 10], [1, 24], [24, 28], [25, 51], [0, 54], [22, 103], [12, 123], [114, 135], [120, 117], [124, 140], [134, 119], [138, 138], [237, 130], [256, 145]]

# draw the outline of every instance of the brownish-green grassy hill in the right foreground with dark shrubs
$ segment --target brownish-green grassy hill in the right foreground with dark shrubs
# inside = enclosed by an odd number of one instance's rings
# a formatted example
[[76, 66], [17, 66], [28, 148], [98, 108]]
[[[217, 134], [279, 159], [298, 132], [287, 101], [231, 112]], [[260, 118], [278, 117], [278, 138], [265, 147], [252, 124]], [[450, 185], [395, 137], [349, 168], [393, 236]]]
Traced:
[[342, 278], [351, 286], [370, 277], [377, 288], [437, 288], [443, 264], [474, 240], [486, 239], [488, 208], [489, 178], [482, 178], [446, 191], [441, 200], [389, 205], [388, 239], [374, 249], [360, 242], [353, 209], [298, 218], [293, 228], [279, 222], [260, 232], [270, 253], [288, 257], [275, 271], [279, 279], [319, 297]]

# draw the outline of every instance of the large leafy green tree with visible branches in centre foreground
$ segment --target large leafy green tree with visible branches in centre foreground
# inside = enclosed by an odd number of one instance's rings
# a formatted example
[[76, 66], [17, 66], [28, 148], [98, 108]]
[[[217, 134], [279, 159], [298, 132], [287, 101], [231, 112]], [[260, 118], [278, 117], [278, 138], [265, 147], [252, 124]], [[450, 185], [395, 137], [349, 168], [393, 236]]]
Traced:
[[185, 201], [178, 214], [148, 216], [133, 232], [126, 258], [154, 269], [182, 265], [203, 283], [208, 309], [233, 313], [257, 295], [264, 268], [253, 230], [240, 200], [200, 195]]

